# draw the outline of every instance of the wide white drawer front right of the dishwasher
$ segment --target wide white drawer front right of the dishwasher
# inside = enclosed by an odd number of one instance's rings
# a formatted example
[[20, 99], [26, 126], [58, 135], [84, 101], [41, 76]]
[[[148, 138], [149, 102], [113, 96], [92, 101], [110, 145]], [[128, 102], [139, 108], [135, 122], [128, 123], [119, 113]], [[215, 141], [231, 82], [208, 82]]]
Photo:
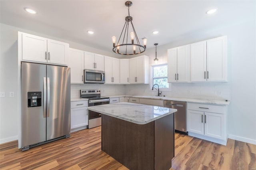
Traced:
[[188, 103], [188, 110], [202, 111], [202, 112], [212, 112], [212, 113], [226, 113], [226, 106], [218, 106], [218, 105], [204, 105], [198, 103]]

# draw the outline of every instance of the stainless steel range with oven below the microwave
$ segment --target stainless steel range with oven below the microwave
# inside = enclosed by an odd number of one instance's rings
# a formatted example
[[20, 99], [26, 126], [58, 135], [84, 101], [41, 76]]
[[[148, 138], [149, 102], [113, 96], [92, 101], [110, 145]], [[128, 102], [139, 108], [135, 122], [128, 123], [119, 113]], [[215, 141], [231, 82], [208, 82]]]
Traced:
[[[102, 97], [100, 96], [100, 89], [84, 89], [80, 90], [80, 97], [88, 99], [88, 106], [97, 106], [97, 105], [106, 105], [109, 104], [109, 97]], [[94, 128], [101, 126], [101, 114], [88, 111], [88, 127], [87, 128]]]

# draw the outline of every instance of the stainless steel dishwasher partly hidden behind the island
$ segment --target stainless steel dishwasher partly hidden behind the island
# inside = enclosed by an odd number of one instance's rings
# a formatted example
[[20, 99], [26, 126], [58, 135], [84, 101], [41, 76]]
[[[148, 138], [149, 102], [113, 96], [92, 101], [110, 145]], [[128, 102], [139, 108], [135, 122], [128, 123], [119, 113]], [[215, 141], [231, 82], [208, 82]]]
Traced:
[[164, 107], [177, 109], [177, 112], [174, 113], [175, 132], [188, 135], [186, 104], [182, 101], [164, 101]]

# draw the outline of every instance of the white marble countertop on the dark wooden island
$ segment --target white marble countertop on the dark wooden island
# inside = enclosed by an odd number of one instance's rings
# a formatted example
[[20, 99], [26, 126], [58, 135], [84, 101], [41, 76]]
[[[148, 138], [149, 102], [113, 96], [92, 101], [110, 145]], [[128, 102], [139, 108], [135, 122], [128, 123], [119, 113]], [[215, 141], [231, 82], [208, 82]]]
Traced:
[[88, 110], [116, 117], [124, 121], [144, 125], [177, 111], [166, 107], [142, 105], [137, 103], [113, 103], [88, 107]]

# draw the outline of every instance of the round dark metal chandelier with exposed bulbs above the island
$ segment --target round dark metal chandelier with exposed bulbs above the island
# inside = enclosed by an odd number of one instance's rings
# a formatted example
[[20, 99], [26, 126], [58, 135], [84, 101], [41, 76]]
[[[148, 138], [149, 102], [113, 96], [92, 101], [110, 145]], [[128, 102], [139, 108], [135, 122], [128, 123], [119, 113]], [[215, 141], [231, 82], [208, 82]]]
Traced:
[[[118, 39], [117, 45], [116, 45], [116, 37], [115, 36], [112, 37], [112, 42], [113, 42], [112, 50], [114, 53], [121, 54], [121, 55], [135, 55], [135, 54], [143, 53], [146, 50], [147, 39], [142, 38], [143, 45], [140, 45], [138, 36], [132, 24], [132, 17], [130, 16], [130, 6], [132, 6], [132, 2], [126, 1], [125, 6], [128, 7], [128, 16], [125, 17], [124, 27]], [[129, 24], [132, 25], [132, 32], [130, 32], [130, 38], [131, 38], [130, 43], [128, 43]], [[134, 38], [136, 40], [136, 43], [134, 42]]]

